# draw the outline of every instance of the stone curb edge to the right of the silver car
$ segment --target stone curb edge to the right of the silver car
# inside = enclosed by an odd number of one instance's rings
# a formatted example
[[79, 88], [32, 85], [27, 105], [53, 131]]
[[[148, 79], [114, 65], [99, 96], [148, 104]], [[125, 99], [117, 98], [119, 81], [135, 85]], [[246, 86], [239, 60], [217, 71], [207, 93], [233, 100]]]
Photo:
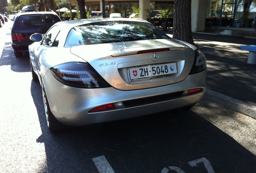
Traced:
[[233, 111], [247, 115], [253, 119], [256, 119], [256, 106], [244, 103], [237, 99], [225, 96], [212, 90], [206, 90], [204, 97], [210, 101], [213, 101], [219, 105], [223, 105]]

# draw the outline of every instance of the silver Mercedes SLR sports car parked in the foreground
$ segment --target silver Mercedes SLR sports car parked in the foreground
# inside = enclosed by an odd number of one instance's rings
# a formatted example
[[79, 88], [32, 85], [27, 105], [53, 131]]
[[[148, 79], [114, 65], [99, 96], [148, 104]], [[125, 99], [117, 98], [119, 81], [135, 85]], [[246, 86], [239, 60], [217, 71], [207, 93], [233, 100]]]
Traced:
[[50, 131], [189, 110], [206, 91], [206, 59], [145, 20], [58, 22], [29, 46]]

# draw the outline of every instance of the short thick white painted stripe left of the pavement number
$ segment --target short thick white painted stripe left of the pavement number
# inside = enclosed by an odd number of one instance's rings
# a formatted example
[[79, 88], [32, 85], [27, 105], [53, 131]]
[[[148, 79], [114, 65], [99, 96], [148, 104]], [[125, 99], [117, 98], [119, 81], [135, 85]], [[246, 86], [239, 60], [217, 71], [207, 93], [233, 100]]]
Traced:
[[93, 162], [96, 165], [99, 173], [115, 173], [105, 156], [94, 157]]

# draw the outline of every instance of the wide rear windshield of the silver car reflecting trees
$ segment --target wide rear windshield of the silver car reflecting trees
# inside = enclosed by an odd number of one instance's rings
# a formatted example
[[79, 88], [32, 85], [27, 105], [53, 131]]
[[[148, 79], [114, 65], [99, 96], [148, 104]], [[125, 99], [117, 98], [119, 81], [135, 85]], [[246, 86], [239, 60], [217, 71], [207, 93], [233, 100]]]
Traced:
[[127, 42], [170, 38], [161, 30], [145, 22], [105, 21], [72, 28], [65, 46]]

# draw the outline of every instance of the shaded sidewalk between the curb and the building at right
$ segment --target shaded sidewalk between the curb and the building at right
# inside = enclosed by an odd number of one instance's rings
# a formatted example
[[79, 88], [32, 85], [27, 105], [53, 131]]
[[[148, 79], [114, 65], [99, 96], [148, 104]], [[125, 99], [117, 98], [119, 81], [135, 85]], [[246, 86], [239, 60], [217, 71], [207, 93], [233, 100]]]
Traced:
[[[172, 31], [165, 32], [172, 37]], [[248, 51], [255, 38], [195, 32], [193, 39], [206, 55], [205, 98], [256, 119], [256, 64], [248, 64]]]

